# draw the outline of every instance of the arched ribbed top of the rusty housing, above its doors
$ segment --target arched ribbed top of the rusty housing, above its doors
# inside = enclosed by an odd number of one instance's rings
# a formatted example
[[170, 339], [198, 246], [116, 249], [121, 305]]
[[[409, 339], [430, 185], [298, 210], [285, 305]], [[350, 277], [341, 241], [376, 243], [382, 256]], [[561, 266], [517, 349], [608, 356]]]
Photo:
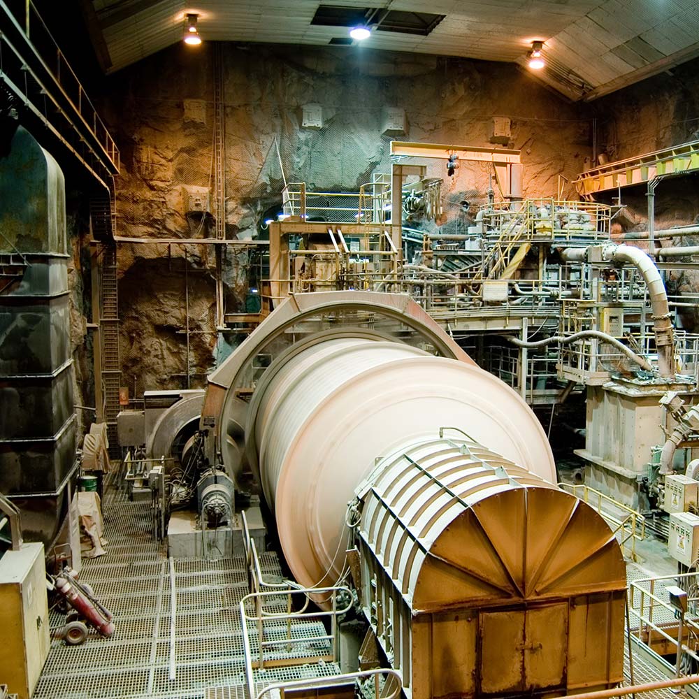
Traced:
[[626, 586], [591, 507], [475, 442], [415, 440], [367, 484], [359, 534], [414, 611]]

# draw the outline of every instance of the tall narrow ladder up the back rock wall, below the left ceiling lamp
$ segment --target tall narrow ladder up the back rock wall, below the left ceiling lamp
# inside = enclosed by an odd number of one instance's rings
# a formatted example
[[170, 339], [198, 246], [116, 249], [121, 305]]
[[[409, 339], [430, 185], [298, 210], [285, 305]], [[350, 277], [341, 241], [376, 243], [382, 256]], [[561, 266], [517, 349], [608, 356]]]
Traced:
[[[224, 159], [226, 157], [226, 108], [223, 89], [223, 62], [220, 42], [214, 43], [214, 216], [216, 219], [215, 236], [218, 240], [226, 238], [226, 175]], [[215, 245], [216, 254], [216, 326], [224, 326], [223, 299], [223, 245]]]

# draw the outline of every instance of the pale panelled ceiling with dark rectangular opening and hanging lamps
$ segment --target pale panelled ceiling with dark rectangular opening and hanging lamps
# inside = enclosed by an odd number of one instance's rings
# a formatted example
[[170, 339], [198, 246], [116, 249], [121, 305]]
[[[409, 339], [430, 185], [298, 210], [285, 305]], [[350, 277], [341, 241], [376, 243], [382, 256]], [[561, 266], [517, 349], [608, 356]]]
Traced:
[[[204, 41], [327, 45], [346, 27], [311, 24], [320, 0], [86, 0], [108, 72], [180, 41], [186, 13]], [[537, 77], [572, 99], [595, 99], [699, 55], [699, 0], [324, 0], [446, 15], [428, 36], [375, 31], [366, 48], [526, 65], [545, 41]], [[347, 50], [353, 50], [352, 47]]]

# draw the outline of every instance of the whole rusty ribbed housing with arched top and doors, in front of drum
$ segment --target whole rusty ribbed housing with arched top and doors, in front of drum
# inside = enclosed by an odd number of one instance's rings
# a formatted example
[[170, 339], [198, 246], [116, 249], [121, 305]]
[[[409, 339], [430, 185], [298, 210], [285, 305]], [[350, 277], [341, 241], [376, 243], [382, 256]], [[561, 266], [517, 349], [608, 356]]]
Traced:
[[591, 507], [451, 436], [384, 457], [359, 500], [361, 605], [412, 696], [623, 679], [626, 570]]

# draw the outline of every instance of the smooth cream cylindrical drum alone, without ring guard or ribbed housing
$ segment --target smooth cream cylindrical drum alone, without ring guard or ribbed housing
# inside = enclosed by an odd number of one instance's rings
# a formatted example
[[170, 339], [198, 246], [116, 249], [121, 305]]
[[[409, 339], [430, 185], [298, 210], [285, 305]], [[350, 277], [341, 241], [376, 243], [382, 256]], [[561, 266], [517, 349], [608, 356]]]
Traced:
[[296, 581], [334, 584], [347, 504], [375, 459], [408, 438], [461, 426], [555, 482], [546, 435], [522, 398], [473, 364], [403, 343], [336, 338], [291, 356], [250, 415], [264, 496]]

